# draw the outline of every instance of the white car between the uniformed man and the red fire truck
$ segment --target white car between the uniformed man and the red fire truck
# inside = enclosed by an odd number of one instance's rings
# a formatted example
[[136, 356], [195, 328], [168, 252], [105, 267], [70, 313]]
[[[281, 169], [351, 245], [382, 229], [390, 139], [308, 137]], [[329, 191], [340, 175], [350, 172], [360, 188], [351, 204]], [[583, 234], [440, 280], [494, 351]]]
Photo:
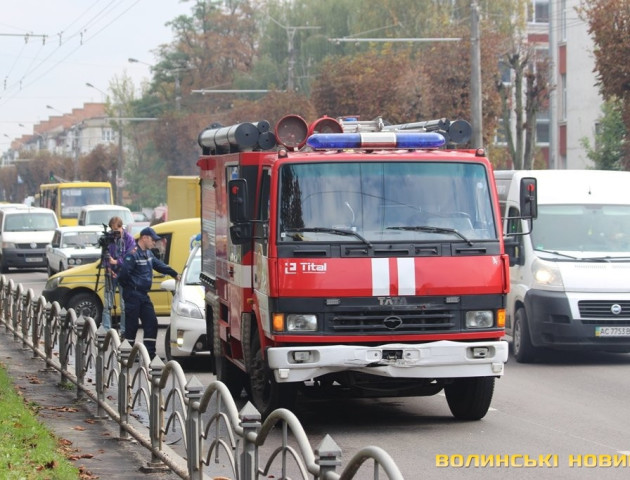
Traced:
[[[204, 315], [204, 288], [199, 281], [201, 272], [201, 249], [194, 247], [176, 283], [171, 278], [161, 283], [163, 290], [173, 292], [171, 320], [164, 334], [164, 352], [167, 360], [190, 359], [194, 356], [210, 355], [206, 336]], [[208, 364], [209, 365], [209, 364]]]

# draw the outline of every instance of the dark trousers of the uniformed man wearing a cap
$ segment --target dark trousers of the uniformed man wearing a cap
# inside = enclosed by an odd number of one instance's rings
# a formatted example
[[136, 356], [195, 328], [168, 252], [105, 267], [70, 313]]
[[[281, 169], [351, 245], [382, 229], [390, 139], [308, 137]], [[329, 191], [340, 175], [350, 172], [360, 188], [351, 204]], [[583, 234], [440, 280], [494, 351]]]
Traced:
[[151, 359], [155, 357], [155, 341], [157, 340], [157, 317], [153, 303], [146, 292], [125, 288], [125, 339], [134, 344], [138, 333], [138, 319], [144, 330], [144, 346], [147, 347]]

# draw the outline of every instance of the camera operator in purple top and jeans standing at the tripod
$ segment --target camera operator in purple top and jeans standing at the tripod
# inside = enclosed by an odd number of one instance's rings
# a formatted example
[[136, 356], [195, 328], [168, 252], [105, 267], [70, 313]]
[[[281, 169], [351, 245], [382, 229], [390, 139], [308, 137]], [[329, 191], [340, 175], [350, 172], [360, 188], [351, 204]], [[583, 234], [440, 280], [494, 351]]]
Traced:
[[123, 229], [122, 218], [112, 217], [109, 220], [110, 231], [101, 237], [101, 248], [104, 252], [105, 267], [105, 305], [103, 307], [102, 325], [105, 330], [112, 327], [112, 308], [116, 305], [116, 289], [120, 293], [120, 335], [125, 334], [125, 301], [123, 289], [118, 283], [118, 273], [125, 255], [136, 248], [136, 241]]

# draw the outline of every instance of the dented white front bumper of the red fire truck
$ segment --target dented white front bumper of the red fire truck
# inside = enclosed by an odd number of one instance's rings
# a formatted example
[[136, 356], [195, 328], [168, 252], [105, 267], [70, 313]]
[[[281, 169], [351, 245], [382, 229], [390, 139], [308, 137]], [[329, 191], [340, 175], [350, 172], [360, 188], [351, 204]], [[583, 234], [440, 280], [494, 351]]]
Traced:
[[303, 382], [347, 370], [391, 378], [496, 377], [503, 375], [508, 344], [441, 340], [374, 347], [309, 345], [271, 347], [267, 356], [277, 382]]

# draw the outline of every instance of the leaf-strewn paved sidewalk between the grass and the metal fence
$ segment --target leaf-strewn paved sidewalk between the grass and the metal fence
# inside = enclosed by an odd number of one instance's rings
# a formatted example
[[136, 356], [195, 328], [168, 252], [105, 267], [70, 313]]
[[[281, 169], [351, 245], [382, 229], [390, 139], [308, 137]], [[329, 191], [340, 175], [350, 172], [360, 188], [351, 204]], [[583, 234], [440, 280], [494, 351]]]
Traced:
[[[0, 363], [13, 379], [18, 392], [39, 406], [39, 420], [67, 445], [67, 457], [81, 470], [83, 480], [177, 479], [171, 471], [146, 471], [150, 452], [135, 440], [118, 440], [118, 424], [95, 419], [96, 405], [89, 399], [77, 401], [76, 387], [59, 386], [61, 374], [47, 371], [33, 351], [23, 350], [10, 334], [0, 332]], [[63, 479], [66, 480], [66, 479]], [[71, 479], [68, 479], [71, 480]]]

